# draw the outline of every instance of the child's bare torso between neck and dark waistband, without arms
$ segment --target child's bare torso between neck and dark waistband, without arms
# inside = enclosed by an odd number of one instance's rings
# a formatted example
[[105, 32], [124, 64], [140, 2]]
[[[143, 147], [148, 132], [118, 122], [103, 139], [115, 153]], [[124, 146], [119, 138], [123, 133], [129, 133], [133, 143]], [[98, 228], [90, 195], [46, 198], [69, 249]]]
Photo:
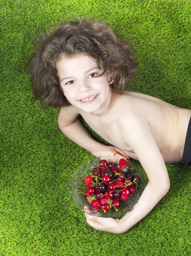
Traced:
[[147, 120], [150, 132], [165, 163], [181, 162], [191, 110], [179, 108], [142, 93], [124, 91], [116, 95], [110, 113], [104, 117], [93, 116], [78, 109], [87, 124], [104, 140], [121, 148], [138, 160], [133, 149], [122, 138], [120, 123], [124, 115], [133, 113]]

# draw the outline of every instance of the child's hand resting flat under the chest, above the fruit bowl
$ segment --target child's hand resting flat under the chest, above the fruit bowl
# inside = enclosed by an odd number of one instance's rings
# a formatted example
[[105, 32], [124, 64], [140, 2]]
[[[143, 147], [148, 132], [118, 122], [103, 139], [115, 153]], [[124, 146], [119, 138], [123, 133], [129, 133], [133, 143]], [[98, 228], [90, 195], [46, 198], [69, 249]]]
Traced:
[[115, 146], [107, 146], [104, 144], [101, 144], [101, 146], [96, 150], [92, 152], [93, 155], [96, 157], [102, 157], [102, 156], [111, 156], [113, 157], [113, 154], [115, 154], [115, 157], [122, 157], [126, 160], [130, 160], [130, 157], [127, 156], [127, 154], [122, 151], [122, 149], [117, 148]]

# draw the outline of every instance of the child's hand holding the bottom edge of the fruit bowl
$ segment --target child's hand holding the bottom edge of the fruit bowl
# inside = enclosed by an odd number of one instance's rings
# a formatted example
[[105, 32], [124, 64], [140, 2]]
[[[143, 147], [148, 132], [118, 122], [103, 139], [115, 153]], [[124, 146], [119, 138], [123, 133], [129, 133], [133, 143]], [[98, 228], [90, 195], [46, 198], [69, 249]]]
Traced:
[[126, 230], [124, 230], [124, 226], [122, 225], [122, 219], [113, 219], [113, 218], [104, 218], [90, 215], [85, 212], [87, 223], [95, 228], [96, 230], [109, 232], [113, 234], [122, 234]]

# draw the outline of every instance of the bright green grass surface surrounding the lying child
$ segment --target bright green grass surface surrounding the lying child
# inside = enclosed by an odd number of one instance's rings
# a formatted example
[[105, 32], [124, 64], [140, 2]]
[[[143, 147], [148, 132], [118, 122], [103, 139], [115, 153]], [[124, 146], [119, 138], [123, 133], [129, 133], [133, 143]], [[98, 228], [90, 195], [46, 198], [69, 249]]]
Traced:
[[121, 235], [94, 230], [73, 203], [71, 174], [94, 156], [61, 133], [59, 109], [35, 101], [26, 74], [35, 32], [64, 13], [129, 35], [140, 64], [128, 90], [191, 108], [191, 1], [0, 0], [0, 256], [191, 255], [191, 167], [166, 164], [168, 194]]

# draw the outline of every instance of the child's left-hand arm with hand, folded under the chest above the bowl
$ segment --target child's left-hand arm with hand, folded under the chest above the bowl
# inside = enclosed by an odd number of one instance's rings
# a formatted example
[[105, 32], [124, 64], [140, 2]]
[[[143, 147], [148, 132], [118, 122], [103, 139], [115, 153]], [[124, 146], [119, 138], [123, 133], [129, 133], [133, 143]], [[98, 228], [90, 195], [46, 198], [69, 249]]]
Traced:
[[58, 126], [70, 140], [77, 145], [90, 151], [96, 157], [117, 154], [121, 157], [130, 159], [121, 149], [114, 146], [107, 146], [94, 140], [81, 122], [77, 119], [79, 113], [72, 105], [61, 108], [58, 116]]

